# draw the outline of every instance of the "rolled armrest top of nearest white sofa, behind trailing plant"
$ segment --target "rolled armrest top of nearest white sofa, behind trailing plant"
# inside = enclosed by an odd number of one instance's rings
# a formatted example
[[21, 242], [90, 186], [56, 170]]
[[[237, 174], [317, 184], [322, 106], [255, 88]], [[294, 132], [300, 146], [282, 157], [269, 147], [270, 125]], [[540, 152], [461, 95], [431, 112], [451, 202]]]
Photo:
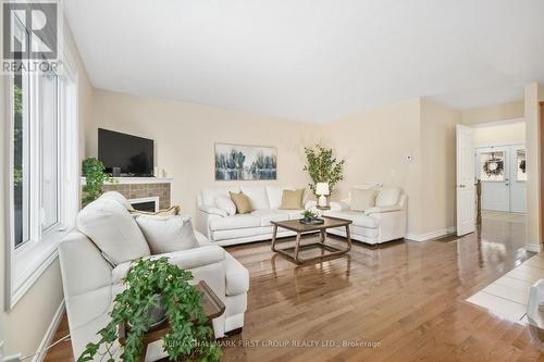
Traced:
[[[175, 252], [168, 252], [146, 257], [144, 259], [168, 258], [171, 264], [177, 265], [183, 270], [190, 270], [203, 265], [220, 263], [225, 260], [225, 250], [219, 246], [205, 246]], [[132, 262], [119, 264], [111, 272], [113, 283], [120, 283], [131, 269]]]

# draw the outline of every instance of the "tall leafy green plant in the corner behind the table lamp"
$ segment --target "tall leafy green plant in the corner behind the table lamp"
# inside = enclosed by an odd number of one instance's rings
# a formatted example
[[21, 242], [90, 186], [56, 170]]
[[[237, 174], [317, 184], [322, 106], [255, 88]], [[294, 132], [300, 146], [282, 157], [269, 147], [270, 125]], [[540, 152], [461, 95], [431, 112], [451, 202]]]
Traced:
[[316, 194], [316, 184], [329, 183], [331, 194], [334, 185], [344, 179], [344, 163], [346, 160], [338, 160], [330, 148], [316, 145], [313, 147], [305, 147], [307, 164], [304, 171], [308, 171], [313, 183], [308, 184], [310, 189]]

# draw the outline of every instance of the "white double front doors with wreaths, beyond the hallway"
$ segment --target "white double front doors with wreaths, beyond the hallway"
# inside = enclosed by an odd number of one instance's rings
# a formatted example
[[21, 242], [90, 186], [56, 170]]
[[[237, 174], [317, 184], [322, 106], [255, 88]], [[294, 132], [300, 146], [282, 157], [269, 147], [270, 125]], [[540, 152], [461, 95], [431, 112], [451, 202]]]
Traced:
[[482, 182], [482, 210], [527, 212], [526, 145], [479, 147], [474, 165]]

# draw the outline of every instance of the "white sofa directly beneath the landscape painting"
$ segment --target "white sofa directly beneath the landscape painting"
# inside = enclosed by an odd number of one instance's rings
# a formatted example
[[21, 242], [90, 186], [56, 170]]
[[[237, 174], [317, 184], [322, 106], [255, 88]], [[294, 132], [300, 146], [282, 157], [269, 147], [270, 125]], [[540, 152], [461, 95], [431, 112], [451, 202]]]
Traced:
[[[294, 190], [290, 186], [232, 186], [212, 187], [197, 196], [196, 228], [220, 246], [268, 240], [272, 238], [271, 221], [300, 219], [300, 210], [281, 210], [283, 190]], [[251, 201], [254, 211], [249, 214], [228, 215], [220, 210], [215, 199], [228, 192], [244, 192]], [[306, 192], [308, 194], [308, 192]], [[305, 209], [316, 204], [306, 201]], [[280, 229], [277, 237], [293, 236], [295, 233]]]

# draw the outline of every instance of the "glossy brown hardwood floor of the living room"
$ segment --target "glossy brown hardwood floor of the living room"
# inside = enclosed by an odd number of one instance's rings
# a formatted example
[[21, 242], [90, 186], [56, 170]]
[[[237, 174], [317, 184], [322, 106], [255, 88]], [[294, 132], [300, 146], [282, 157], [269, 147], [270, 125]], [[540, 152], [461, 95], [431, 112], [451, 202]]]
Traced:
[[[527, 327], [465, 301], [529, 258], [523, 245], [523, 223], [485, 219], [460, 239], [355, 242], [348, 258], [305, 266], [270, 242], [228, 248], [251, 279], [223, 361], [544, 361]], [[46, 361], [73, 361], [70, 344]]]

